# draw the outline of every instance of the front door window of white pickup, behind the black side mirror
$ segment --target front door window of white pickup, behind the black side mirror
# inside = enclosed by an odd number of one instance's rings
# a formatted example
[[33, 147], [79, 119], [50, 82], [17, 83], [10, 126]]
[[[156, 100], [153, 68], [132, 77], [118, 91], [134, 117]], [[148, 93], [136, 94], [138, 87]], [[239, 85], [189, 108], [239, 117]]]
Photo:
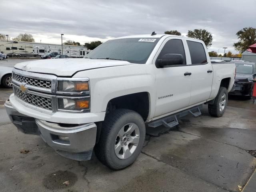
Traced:
[[186, 65], [186, 56], [182, 40], [171, 39], [168, 42], [166, 42], [158, 58], [164, 56], [165, 54], [181, 54], [183, 56], [182, 65]]

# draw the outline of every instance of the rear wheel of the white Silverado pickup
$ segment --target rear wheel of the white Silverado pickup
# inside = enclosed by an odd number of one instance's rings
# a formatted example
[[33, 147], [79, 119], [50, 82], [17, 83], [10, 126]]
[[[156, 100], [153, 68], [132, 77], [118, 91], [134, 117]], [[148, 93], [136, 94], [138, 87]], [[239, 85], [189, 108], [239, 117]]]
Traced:
[[[225, 101], [224, 101], [225, 99]], [[208, 104], [208, 112], [211, 116], [221, 117], [228, 104], [228, 92], [225, 87], [220, 87], [213, 104]]]

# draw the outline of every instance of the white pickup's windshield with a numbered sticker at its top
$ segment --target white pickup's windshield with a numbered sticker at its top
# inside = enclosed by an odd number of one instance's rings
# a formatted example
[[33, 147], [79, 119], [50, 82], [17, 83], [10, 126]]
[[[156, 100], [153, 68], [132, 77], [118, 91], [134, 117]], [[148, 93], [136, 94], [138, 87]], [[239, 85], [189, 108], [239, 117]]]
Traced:
[[145, 64], [160, 38], [123, 38], [105, 42], [84, 58]]

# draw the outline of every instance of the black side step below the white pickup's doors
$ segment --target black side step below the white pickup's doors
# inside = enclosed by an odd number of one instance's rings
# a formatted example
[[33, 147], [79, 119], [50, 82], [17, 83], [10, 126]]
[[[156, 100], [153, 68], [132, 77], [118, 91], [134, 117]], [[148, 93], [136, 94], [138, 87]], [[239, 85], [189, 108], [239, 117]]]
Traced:
[[180, 118], [180, 117], [186, 116], [190, 113], [195, 117], [201, 115], [202, 113], [201, 113], [200, 109], [202, 108], [202, 106], [203, 105], [198, 105], [198, 106], [186, 109], [184, 111], [172, 114], [170, 116], [166, 116], [166, 117], [160, 118], [158, 120], [154, 120], [154, 121], [148, 123], [148, 126], [155, 128], [155, 127], [163, 125], [167, 128], [172, 128], [179, 124], [178, 118]]

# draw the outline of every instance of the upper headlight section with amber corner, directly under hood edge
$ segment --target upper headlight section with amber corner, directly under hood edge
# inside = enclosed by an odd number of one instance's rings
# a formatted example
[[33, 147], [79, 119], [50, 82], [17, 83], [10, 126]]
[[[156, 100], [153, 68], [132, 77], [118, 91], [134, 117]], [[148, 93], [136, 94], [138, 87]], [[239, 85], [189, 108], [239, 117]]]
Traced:
[[89, 91], [89, 83], [82, 81], [58, 81], [60, 92], [82, 92]]

